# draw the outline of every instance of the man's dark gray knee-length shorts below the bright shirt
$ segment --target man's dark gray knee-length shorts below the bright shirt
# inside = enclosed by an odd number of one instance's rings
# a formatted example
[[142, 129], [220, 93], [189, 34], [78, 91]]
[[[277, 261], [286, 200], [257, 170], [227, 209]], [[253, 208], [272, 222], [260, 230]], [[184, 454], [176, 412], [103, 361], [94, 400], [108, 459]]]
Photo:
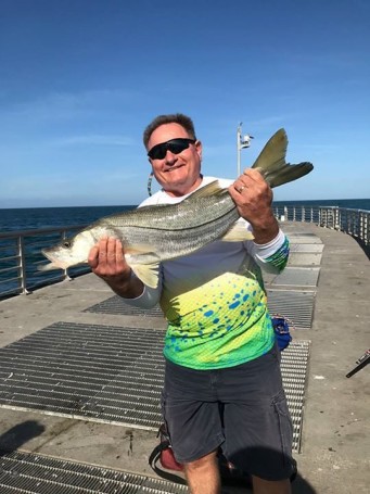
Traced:
[[162, 408], [179, 463], [220, 447], [253, 476], [291, 477], [293, 428], [277, 347], [227, 369], [194, 370], [166, 360]]

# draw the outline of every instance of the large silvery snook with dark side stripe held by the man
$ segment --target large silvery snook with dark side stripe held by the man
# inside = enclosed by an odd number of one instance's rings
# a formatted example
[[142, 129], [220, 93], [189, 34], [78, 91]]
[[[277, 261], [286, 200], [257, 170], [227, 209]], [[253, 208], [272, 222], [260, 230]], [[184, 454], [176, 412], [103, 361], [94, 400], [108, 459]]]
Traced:
[[[281, 186], [311, 172], [310, 163], [285, 163], [284, 129], [267, 142], [252, 168], [258, 169], [270, 187]], [[227, 189], [214, 181], [178, 204], [139, 207], [106, 216], [55, 246], [42, 250], [50, 264], [40, 270], [66, 269], [87, 263], [90, 249], [101, 239], [114, 237], [124, 245], [126, 261], [143, 283], [155, 288], [163, 261], [184, 256], [215, 240], [252, 239], [239, 219]]]

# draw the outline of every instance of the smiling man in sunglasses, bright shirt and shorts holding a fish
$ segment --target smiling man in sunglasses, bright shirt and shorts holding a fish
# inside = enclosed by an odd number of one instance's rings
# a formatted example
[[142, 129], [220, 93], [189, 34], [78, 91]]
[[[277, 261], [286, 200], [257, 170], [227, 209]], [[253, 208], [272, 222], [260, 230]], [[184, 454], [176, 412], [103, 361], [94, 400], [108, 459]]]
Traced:
[[[214, 180], [201, 174], [202, 143], [188, 116], [156, 117], [143, 140], [162, 190], [141, 205], [179, 202]], [[89, 264], [127, 303], [160, 302], [164, 311], [163, 413], [191, 493], [220, 493], [221, 447], [252, 474], [254, 493], [289, 494], [292, 423], [260, 276], [260, 266], [275, 273], [285, 266], [289, 243], [257, 170], [220, 185], [229, 187], [253, 241], [217, 241], [165, 262], [157, 289], [131, 273], [118, 240], [101, 240]]]

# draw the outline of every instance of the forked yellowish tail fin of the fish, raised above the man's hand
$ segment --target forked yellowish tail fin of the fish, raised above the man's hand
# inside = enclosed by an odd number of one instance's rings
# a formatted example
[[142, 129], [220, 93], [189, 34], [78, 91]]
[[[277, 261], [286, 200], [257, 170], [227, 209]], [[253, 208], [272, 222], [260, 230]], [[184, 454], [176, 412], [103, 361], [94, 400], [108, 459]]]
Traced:
[[252, 166], [261, 174], [271, 188], [296, 180], [314, 169], [314, 165], [308, 162], [297, 165], [285, 163], [286, 148], [286, 132], [281, 128], [268, 140]]

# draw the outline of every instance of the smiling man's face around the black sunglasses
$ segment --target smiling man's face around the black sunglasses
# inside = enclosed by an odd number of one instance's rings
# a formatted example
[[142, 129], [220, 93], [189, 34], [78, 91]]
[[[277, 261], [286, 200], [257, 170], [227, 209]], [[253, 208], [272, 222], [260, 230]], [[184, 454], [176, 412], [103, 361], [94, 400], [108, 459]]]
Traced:
[[[190, 138], [188, 132], [179, 124], [165, 124], [157, 127], [148, 142], [148, 151], [154, 145], [177, 138]], [[189, 143], [189, 147], [176, 154], [166, 151], [163, 159], [152, 159], [154, 176], [163, 189], [174, 197], [192, 192], [201, 185], [201, 156], [202, 143]]]

